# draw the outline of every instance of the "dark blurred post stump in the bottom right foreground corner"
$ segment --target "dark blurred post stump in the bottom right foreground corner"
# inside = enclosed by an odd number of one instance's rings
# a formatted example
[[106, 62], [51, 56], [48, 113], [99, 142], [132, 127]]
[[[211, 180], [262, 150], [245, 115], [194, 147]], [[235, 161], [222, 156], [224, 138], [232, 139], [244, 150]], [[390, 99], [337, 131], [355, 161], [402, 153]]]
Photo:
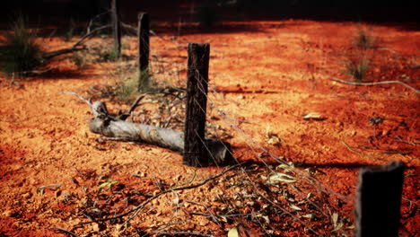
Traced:
[[360, 171], [356, 237], [398, 237], [404, 163]]

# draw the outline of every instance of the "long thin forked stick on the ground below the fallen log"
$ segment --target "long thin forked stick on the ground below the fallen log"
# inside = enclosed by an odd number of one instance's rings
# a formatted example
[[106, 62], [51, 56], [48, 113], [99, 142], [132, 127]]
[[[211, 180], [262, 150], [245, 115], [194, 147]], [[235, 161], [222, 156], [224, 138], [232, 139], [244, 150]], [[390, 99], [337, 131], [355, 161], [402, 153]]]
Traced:
[[197, 184], [194, 184], [194, 185], [183, 186], [183, 187], [177, 187], [177, 188], [173, 188], [173, 189], [163, 190], [163, 191], [157, 193], [156, 195], [154, 195], [152, 198], [148, 198], [147, 200], [145, 200], [139, 206], [136, 206], [136, 207], [132, 208], [131, 210], [129, 210], [129, 211], [123, 213], [123, 214], [116, 215], [114, 217], [103, 218], [101, 220], [95, 220], [95, 221], [91, 221], [91, 222], [80, 223], [80, 224], [76, 224], [76, 225], [78, 226], [78, 225], [83, 225], [83, 224], [92, 224], [92, 223], [96, 223], [96, 222], [99, 222], [99, 223], [106, 222], [106, 221], [115, 220], [115, 219], [118, 219], [118, 218], [121, 218], [121, 217], [124, 217], [126, 215], [129, 215], [129, 214], [133, 213], [132, 215], [130, 215], [130, 217], [128, 217], [127, 221], [124, 223], [124, 224], [127, 224], [134, 217], [136, 217], [136, 215], [144, 208], [144, 206], [146, 206], [147, 204], [149, 204], [150, 202], [152, 202], [154, 199], [161, 197], [163, 194], [167, 194], [167, 193], [173, 192], [173, 191], [185, 190], [185, 189], [196, 189], [196, 188], [198, 188], [200, 186], [205, 185], [207, 182], [209, 182], [211, 180], [218, 179], [219, 177], [223, 176], [223, 174], [225, 174], [226, 172], [232, 171], [233, 169], [241, 166], [242, 164], [243, 163], [238, 163], [238, 164], [232, 165], [231, 167], [229, 167], [228, 169], [222, 171], [221, 173], [219, 173], [219, 174], [217, 174], [217, 175], [215, 175], [215, 176], [213, 176], [211, 178], [208, 178], [207, 180], [203, 180], [202, 182], [197, 183]]

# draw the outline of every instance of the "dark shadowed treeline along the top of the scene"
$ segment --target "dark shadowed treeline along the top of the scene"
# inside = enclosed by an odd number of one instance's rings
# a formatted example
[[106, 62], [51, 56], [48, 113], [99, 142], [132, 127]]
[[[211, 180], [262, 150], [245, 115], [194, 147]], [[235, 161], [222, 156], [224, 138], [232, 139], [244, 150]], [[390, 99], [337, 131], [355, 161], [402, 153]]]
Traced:
[[[7, 0], [2, 1], [0, 20], [13, 13], [30, 16], [92, 17], [103, 12], [109, 0]], [[120, 0], [122, 13], [144, 11], [157, 21], [188, 18], [191, 5], [214, 8], [222, 21], [283, 20], [418, 22], [418, 0]], [[10, 17], [9, 17], [10, 18]]]

